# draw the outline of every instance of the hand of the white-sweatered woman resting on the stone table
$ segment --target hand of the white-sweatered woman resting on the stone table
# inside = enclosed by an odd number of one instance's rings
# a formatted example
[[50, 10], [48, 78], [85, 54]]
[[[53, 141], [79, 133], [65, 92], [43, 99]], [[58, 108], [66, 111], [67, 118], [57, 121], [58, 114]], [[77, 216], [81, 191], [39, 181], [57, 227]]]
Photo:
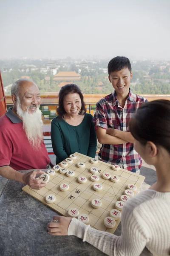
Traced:
[[47, 225], [48, 234], [53, 236], [67, 236], [68, 226], [72, 220], [71, 217], [54, 216], [58, 222], [50, 222]]

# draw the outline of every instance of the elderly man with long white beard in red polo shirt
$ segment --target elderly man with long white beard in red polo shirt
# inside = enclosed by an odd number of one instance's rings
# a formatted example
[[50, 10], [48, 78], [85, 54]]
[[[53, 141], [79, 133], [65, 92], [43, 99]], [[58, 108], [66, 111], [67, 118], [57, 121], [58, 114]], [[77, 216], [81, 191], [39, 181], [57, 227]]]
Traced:
[[[37, 174], [49, 167], [50, 158], [43, 142], [40, 92], [28, 79], [19, 79], [11, 87], [13, 108], [0, 117], [0, 175], [41, 189], [45, 183]], [[28, 173], [19, 170], [38, 169]]]

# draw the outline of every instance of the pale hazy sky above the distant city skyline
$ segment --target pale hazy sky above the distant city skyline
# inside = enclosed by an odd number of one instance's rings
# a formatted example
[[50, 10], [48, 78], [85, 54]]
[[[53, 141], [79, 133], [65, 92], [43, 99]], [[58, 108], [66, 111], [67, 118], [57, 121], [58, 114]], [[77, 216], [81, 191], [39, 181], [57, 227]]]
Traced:
[[170, 60], [170, 0], [0, 0], [0, 58]]

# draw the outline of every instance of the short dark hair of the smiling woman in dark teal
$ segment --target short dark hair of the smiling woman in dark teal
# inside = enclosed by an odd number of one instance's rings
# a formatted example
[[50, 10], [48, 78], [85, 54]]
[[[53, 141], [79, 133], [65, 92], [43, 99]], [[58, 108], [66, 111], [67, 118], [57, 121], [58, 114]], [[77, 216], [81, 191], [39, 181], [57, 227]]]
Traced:
[[57, 108], [58, 115], [60, 117], [62, 117], [66, 113], [65, 109], [64, 109], [64, 105], [63, 105], [63, 100], [64, 100], [64, 97], [69, 93], [78, 93], [79, 94], [81, 102], [82, 102], [82, 108], [79, 111], [79, 115], [83, 115], [86, 112], [85, 102], [84, 102], [82, 92], [76, 84], [65, 84], [64, 86], [61, 87], [61, 89], [59, 91], [59, 105]]

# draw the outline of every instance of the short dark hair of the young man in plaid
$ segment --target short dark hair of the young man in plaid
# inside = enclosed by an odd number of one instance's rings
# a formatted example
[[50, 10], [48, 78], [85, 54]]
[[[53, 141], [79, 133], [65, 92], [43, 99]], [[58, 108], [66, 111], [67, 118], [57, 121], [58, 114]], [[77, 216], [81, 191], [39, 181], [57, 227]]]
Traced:
[[126, 57], [123, 57], [123, 56], [117, 56], [117, 57], [111, 59], [111, 61], [109, 61], [108, 74], [110, 76], [111, 72], [120, 71], [124, 68], [128, 68], [130, 73], [132, 72], [132, 67], [131, 67], [129, 59]]

